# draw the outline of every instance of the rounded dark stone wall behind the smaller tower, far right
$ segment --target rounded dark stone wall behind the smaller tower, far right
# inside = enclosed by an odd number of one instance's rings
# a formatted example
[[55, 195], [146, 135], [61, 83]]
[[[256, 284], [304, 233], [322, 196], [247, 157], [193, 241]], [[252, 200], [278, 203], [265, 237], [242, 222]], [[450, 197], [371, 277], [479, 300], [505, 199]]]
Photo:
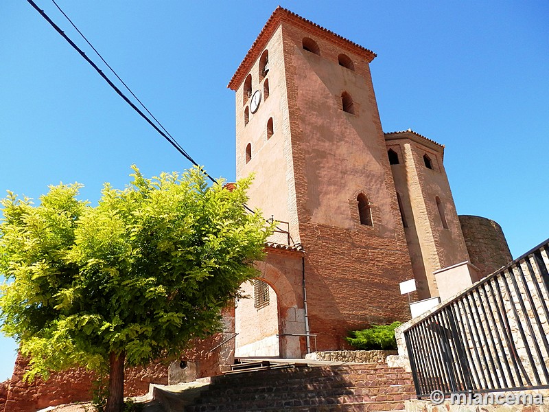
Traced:
[[511, 260], [511, 252], [502, 228], [493, 220], [480, 216], [459, 216], [461, 230], [472, 264], [487, 276]]

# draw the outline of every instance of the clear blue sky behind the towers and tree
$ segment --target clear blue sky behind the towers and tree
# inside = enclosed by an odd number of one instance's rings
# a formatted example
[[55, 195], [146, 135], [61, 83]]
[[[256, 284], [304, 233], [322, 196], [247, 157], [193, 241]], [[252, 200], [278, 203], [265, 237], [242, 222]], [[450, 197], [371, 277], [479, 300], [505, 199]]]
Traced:
[[[51, 1], [36, 2], [84, 47]], [[198, 163], [234, 179], [226, 84], [277, 1], [58, 4]], [[446, 146], [458, 214], [499, 222], [515, 257], [549, 236], [549, 3], [281, 5], [377, 53], [384, 130]], [[148, 175], [189, 166], [26, 1], [0, 3], [0, 38], [0, 196], [78, 181], [95, 202], [105, 181], [126, 184], [132, 163]], [[0, 380], [15, 347], [0, 338]]]

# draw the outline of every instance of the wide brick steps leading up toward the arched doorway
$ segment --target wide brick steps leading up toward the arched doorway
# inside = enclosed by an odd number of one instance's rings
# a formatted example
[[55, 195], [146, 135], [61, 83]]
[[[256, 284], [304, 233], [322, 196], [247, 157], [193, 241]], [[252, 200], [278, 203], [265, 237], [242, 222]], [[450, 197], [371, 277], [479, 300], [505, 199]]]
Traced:
[[385, 364], [240, 369], [211, 378], [184, 411], [404, 411], [415, 397], [411, 374]]

